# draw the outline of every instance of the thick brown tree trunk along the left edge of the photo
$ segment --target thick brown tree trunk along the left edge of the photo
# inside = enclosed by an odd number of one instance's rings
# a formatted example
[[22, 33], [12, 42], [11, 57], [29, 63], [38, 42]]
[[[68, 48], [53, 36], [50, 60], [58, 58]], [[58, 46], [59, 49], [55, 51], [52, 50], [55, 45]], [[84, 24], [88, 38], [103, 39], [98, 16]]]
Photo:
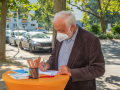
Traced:
[[0, 20], [0, 61], [6, 60], [5, 55], [5, 43], [6, 43], [6, 15], [7, 15], [7, 3], [6, 0], [1, 0], [1, 20]]

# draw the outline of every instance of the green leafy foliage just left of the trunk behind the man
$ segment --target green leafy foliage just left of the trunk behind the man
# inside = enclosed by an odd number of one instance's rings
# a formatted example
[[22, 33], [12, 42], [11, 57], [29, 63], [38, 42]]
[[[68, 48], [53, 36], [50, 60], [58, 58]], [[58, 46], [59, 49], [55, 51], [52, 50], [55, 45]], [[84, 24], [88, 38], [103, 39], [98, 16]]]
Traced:
[[30, 14], [32, 20], [42, 23], [46, 29], [52, 26], [51, 17], [54, 15], [54, 0], [38, 0], [35, 4], [35, 14]]

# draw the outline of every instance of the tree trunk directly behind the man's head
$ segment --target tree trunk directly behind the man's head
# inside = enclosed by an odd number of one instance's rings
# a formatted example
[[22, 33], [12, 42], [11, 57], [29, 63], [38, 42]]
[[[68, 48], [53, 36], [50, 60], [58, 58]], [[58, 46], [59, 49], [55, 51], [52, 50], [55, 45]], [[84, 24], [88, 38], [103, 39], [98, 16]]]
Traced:
[[[57, 13], [62, 10], [66, 10], [66, 0], [54, 0], [54, 13]], [[54, 40], [57, 32], [53, 30], [53, 41], [52, 41], [52, 48], [54, 47]]]

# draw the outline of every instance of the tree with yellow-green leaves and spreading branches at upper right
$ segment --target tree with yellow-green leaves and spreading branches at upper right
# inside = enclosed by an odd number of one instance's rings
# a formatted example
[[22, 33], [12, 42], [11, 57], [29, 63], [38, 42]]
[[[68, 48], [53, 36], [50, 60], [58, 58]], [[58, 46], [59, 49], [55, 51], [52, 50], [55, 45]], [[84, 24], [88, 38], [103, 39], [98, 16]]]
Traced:
[[[119, 0], [67, 0], [67, 2], [77, 7], [77, 9], [87, 12], [95, 17], [97, 17], [101, 23], [101, 28], [103, 32], [106, 32], [106, 22], [113, 18], [117, 13], [120, 13], [120, 1]], [[89, 3], [96, 4], [97, 11], [92, 8]], [[111, 16], [105, 18], [106, 13], [110, 12]]]

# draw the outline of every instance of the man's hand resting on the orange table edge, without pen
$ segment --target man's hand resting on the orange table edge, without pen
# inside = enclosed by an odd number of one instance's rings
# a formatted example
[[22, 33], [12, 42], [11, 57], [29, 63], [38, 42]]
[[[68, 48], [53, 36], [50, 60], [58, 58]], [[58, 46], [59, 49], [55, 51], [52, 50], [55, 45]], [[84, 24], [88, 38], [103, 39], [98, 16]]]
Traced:
[[57, 74], [58, 75], [66, 74], [66, 75], [71, 76], [71, 69], [68, 68], [66, 65], [62, 65], [62, 66], [59, 67], [59, 71], [58, 71]]

